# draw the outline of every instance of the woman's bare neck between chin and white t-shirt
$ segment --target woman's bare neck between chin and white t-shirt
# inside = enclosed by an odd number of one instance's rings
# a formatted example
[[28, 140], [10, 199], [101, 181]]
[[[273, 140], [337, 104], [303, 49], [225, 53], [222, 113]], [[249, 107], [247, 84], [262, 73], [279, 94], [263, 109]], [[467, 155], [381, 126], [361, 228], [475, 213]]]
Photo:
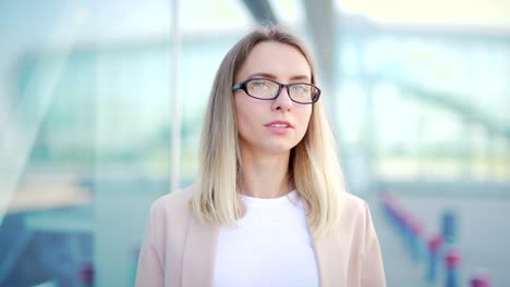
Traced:
[[241, 192], [256, 198], [278, 198], [289, 194], [290, 152], [281, 154], [253, 154], [241, 152]]

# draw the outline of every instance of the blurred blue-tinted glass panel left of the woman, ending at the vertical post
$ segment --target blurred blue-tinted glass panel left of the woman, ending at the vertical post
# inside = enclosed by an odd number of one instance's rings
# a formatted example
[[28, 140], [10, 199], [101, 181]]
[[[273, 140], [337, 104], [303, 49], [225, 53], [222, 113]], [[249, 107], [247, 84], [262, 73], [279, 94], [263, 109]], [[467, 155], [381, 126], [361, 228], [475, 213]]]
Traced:
[[169, 187], [169, 3], [0, 5], [0, 285], [130, 286]]

